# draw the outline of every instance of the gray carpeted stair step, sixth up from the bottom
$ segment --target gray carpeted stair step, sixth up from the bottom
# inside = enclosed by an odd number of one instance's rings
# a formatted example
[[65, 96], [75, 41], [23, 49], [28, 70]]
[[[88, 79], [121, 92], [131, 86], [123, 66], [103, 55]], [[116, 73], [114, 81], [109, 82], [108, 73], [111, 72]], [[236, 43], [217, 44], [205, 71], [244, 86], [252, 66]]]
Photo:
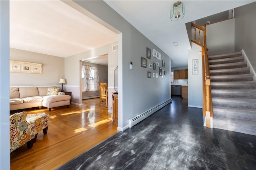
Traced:
[[253, 74], [240, 75], [213, 75], [210, 76], [211, 82], [223, 81], [253, 81]]

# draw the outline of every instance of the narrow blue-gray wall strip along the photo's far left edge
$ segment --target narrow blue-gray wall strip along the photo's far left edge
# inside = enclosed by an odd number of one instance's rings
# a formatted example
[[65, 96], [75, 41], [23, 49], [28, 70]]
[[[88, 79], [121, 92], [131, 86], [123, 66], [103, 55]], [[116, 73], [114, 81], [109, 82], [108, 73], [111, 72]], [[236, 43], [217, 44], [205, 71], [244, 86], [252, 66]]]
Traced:
[[9, 1], [0, 1], [0, 169], [10, 169]]

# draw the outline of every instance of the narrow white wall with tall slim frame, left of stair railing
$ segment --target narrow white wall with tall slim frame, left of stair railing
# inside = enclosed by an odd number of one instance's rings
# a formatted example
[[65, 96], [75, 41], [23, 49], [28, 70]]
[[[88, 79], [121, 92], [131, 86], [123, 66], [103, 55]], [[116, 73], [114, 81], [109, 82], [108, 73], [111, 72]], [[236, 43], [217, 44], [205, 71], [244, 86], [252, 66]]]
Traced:
[[[202, 48], [192, 43], [188, 50], [188, 107], [202, 108], [202, 57], [199, 51]], [[198, 59], [198, 74], [192, 74], [192, 60]]]

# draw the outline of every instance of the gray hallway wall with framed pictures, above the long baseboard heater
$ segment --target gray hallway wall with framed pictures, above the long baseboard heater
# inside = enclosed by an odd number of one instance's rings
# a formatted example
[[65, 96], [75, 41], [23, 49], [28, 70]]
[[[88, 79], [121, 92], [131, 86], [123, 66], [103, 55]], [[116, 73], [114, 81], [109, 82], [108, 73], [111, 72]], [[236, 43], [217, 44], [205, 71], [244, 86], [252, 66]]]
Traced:
[[[118, 129], [128, 127], [128, 119], [170, 99], [170, 58], [156, 45], [136, 30], [103, 1], [75, 1], [77, 4], [122, 32], [122, 42], [118, 41]], [[167, 76], [147, 78], [147, 71], [140, 67], [140, 57], [146, 57], [146, 47], [155, 48], [165, 61]], [[120, 55], [121, 54], [121, 55]], [[156, 62], [154, 57], [148, 63]], [[130, 62], [133, 69], [130, 70]], [[158, 61], [160, 63], [160, 61]], [[159, 69], [156, 67], [156, 69]], [[120, 82], [120, 83], [119, 83]]]

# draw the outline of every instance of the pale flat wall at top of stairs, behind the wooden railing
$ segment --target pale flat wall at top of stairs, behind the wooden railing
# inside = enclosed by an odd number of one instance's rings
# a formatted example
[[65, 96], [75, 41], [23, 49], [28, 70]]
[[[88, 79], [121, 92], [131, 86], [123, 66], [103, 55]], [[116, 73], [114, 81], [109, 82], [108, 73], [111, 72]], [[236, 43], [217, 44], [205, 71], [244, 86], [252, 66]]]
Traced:
[[235, 19], [206, 26], [208, 55], [233, 53], [235, 51]]

